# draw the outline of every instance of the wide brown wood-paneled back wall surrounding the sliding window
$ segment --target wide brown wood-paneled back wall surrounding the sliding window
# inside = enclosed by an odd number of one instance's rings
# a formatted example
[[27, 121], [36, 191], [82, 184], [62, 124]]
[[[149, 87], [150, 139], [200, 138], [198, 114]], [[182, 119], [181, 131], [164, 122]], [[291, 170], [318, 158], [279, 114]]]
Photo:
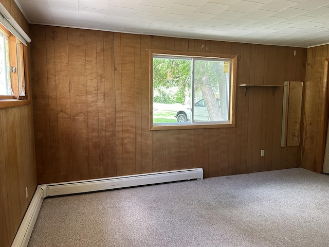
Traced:
[[[238, 84], [305, 78], [306, 49], [31, 25], [38, 183], [202, 167], [300, 167], [281, 148], [283, 87], [237, 87], [236, 127], [149, 130], [148, 48], [239, 54]], [[296, 50], [296, 56], [294, 56]], [[261, 149], [265, 156], [261, 157]]]

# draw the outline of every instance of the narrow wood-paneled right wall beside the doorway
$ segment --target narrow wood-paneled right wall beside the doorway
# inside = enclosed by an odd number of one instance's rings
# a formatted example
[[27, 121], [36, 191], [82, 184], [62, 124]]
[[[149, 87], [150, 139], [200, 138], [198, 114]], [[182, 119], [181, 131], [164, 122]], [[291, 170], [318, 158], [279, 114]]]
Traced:
[[322, 172], [328, 121], [326, 59], [329, 45], [307, 49], [305, 106], [303, 111], [303, 149], [301, 167]]

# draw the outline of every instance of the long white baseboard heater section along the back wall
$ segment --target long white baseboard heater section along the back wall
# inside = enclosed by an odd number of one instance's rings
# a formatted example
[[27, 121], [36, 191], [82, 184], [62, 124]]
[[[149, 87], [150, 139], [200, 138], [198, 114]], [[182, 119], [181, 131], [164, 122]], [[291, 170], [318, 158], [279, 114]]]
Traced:
[[85, 193], [194, 179], [203, 179], [202, 168], [142, 173], [113, 178], [47, 184], [46, 196], [51, 197], [70, 195], [75, 193]]

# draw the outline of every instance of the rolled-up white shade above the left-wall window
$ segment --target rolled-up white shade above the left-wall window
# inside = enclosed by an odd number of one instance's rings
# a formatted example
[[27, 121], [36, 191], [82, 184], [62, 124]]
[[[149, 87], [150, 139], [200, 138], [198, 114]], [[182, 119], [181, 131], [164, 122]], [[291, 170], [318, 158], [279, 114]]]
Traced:
[[19, 24], [13, 19], [6, 8], [0, 3], [0, 23], [4, 25], [24, 45], [31, 42], [30, 37], [24, 32]]

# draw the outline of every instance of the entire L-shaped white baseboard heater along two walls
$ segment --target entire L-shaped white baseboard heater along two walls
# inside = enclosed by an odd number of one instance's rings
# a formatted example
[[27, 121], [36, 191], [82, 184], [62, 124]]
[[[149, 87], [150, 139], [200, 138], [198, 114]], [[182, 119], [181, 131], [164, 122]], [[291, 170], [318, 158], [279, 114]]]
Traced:
[[63, 196], [76, 193], [94, 192], [110, 189], [135, 187], [142, 185], [202, 180], [203, 169], [193, 168], [163, 172], [142, 173], [104, 179], [89, 179], [64, 183], [43, 184], [36, 188], [32, 201], [26, 211], [19, 231], [11, 247], [26, 247], [38, 217], [43, 199], [51, 196]]

